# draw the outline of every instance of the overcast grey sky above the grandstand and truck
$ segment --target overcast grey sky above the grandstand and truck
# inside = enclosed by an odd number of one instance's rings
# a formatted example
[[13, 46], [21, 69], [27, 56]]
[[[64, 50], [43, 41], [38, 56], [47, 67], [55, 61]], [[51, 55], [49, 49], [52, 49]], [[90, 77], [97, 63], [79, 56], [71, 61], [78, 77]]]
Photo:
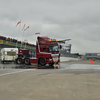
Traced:
[[71, 39], [72, 53], [100, 53], [100, 0], [0, 0], [0, 35], [35, 44], [36, 32]]

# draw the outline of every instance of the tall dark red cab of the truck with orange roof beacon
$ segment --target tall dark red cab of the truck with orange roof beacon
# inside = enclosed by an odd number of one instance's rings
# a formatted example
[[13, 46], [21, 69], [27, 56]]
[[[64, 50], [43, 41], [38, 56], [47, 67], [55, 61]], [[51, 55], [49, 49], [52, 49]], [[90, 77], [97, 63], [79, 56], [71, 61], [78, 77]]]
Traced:
[[58, 64], [60, 54], [57, 41], [48, 37], [37, 37], [36, 58], [41, 66]]

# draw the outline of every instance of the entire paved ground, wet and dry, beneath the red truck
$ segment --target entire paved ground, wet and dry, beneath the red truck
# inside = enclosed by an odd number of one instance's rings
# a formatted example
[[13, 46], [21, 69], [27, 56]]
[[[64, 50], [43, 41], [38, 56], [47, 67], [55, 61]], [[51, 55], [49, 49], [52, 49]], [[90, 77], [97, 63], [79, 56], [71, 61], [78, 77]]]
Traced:
[[100, 64], [94, 63], [63, 62], [60, 69], [0, 64], [0, 100], [100, 100]]

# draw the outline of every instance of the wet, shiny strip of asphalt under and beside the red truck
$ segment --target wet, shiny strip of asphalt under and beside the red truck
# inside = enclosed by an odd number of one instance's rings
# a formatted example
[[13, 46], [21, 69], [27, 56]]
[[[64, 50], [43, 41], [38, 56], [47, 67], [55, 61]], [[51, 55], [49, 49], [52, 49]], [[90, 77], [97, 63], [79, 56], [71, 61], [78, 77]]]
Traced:
[[26, 72], [37, 73], [100, 73], [100, 65], [90, 64], [68, 64], [67, 62], [60, 63], [59, 68], [49, 68], [48, 65], [42, 69], [37, 69], [37, 65], [25, 65], [15, 63], [0, 63], [0, 72], [14, 72], [17, 70], [25, 70]]

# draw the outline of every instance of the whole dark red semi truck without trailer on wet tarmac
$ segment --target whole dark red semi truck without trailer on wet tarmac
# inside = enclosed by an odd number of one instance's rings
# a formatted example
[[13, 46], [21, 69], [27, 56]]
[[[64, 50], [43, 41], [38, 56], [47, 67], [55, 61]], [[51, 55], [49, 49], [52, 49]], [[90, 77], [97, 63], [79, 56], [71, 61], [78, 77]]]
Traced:
[[42, 68], [46, 64], [53, 67], [60, 62], [60, 54], [58, 43], [55, 39], [48, 37], [37, 37], [36, 41], [36, 57], [29, 57], [29, 50], [19, 49], [16, 63], [21, 64], [38, 64], [38, 68]]

